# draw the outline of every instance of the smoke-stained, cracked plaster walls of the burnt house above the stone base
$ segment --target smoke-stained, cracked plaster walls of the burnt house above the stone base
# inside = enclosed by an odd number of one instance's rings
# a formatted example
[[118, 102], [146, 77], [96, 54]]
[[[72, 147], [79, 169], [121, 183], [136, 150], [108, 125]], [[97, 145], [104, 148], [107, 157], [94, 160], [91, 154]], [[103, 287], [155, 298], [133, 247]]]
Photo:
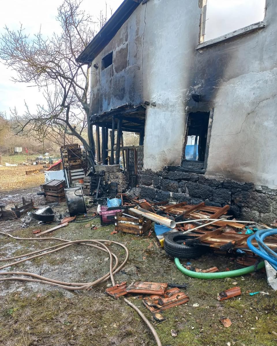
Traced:
[[91, 114], [148, 101], [143, 168], [159, 172], [181, 164], [188, 114], [213, 108], [205, 177], [276, 189], [276, 4], [265, 28], [195, 49], [200, 15], [197, 1], [140, 4], [93, 61], [120, 60], [93, 70]]

